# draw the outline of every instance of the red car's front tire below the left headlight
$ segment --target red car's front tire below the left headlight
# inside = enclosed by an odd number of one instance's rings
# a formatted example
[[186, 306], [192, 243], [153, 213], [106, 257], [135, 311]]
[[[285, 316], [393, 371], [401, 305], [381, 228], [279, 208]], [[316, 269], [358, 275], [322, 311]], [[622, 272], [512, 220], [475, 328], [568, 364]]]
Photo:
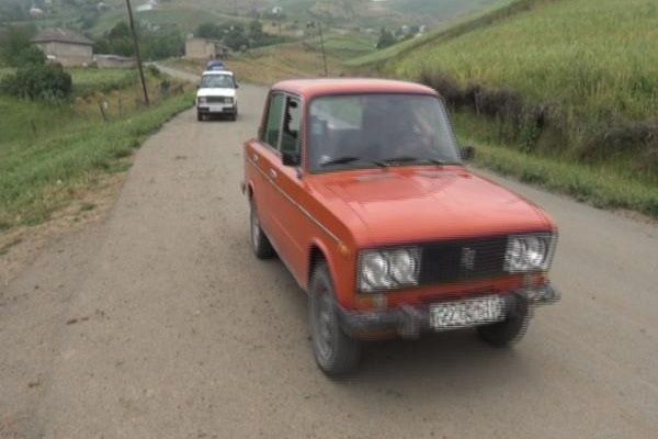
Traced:
[[361, 342], [348, 336], [339, 320], [333, 282], [326, 262], [313, 272], [308, 297], [308, 316], [316, 363], [328, 376], [341, 376], [359, 365]]

